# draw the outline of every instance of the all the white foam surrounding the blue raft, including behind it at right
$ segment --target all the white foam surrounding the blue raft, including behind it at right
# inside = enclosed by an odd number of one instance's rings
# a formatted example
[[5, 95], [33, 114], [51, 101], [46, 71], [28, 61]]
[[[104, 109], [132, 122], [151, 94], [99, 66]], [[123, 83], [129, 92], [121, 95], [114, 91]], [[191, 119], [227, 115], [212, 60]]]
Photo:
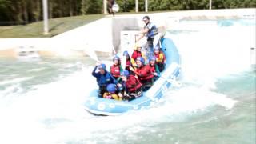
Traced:
[[[202, 114], [213, 106], [232, 110], [238, 101], [214, 91], [216, 80], [250, 67], [250, 47], [255, 47], [251, 26], [204, 26], [205, 30], [169, 34], [182, 56], [181, 87], [164, 93], [164, 98], [149, 109], [115, 117], [95, 117], [84, 110], [83, 102], [97, 83], [93, 66], [68, 63], [61, 69], [82, 66], [58, 81], [33, 86], [26, 93], [14, 91], [29, 78], [6, 80], [17, 83], [0, 94], [11, 97], [8, 105], [0, 97], [0, 143], [98, 143], [118, 142], [120, 134], [136, 142], [138, 132], [151, 130], [160, 122], [182, 122], [190, 115]], [[246, 38], [245, 38], [246, 37]], [[105, 61], [104, 61], [105, 62]], [[111, 63], [111, 62], [105, 62]], [[32, 71], [44, 70], [43, 68]], [[161, 137], [161, 135], [159, 135]]]

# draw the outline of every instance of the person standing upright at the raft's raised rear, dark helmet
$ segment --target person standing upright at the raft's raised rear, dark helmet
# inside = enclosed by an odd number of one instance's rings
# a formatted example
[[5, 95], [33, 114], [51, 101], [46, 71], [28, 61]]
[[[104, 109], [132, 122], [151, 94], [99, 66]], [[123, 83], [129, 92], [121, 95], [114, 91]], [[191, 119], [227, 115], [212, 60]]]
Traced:
[[153, 42], [154, 42], [154, 36], [158, 34], [158, 28], [150, 22], [149, 16], [144, 16], [142, 18], [143, 22], [145, 22], [145, 26], [143, 30], [141, 30], [138, 34], [135, 34], [135, 36], [138, 36], [138, 38], [135, 39], [136, 42], [138, 42], [140, 39], [142, 39], [144, 36], [147, 37], [146, 42], [146, 57], [150, 58], [153, 56]]

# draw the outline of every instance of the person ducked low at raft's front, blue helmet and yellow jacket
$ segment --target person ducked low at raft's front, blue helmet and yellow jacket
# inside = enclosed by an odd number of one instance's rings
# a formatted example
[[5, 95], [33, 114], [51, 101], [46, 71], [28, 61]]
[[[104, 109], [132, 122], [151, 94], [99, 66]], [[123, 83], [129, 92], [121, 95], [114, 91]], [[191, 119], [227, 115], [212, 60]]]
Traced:
[[106, 86], [107, 92], [103, 94], [103, 98], [114, 99], [122, 101], [122, 97], [119, 97], [117, 93], [117, 86], [114, 83], [110, 83]]

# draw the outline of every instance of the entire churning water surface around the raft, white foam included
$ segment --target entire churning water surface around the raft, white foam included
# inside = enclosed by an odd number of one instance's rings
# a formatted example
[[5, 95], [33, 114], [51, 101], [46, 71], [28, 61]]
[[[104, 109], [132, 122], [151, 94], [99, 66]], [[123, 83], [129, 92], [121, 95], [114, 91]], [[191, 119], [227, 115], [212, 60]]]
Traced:
[[83, 108], [87, 92], [97, 87], [90, 58], [0, 58], [0, 142], [255, 143], [255, 23], [218, 25], [223, 22], [170, 30], [182, 55], [181, 86], [166, 90], [150, 109], [116, 117], [95, 117]]

